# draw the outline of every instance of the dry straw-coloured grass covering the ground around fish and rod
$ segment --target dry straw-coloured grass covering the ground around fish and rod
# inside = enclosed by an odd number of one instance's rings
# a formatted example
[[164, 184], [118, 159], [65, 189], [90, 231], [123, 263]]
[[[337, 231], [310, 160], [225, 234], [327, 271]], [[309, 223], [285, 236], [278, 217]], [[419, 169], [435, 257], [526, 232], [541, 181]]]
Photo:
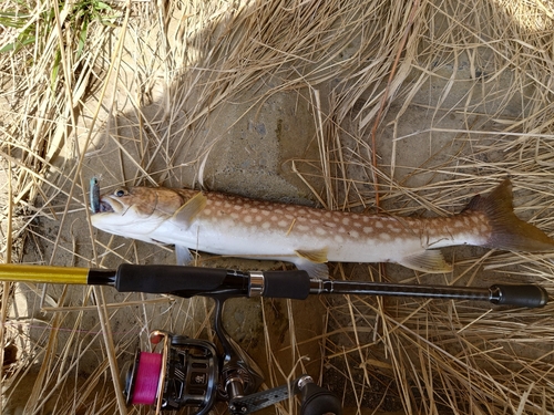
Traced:
[[[172, 261], [165, 248], [94, 234], [88, 179], [212, 185], [208, 155], [283, 94], [312, 114], [316, 152], [298, 148], [285, 166], [321, 206], [445, 215], [510, 175], [517, 214], [554, 231], [550, 1], [57, 4], [0, 6], [0, 50], [22, 43], [0, 53], [6, 262]], [[85, 38], [80, 10], [92, 17]], [[240, 113], [222, 124], [232, 107]], [[367, 266], [337, 267], [335, 278], [553, 290], [550, 255], [449, 255], [455, 273], [438, 279]], [[312, 342], [324, 369], [347, 380], [339, 394], [360, 407], [380, 383], [377, 403], [391, 396], [406, 413], [543, 414], [554, 412], [552, 308], [351, 297], [327, 305], [327, 332]], [[263, 310], [266, 326], [289, 322], [284, 353], [302, 372], [298, 315], [289, 303], [277, 319]], [[136, 339], [146, 346], [155, 328], [209, 338], [209, 312], [203, 299], [3, 284], [0, 340], [19, 353], [3, 367], [2, 405], [124, 413], [117, 366]], [[293, 376], [275, 347], [260, 355], [268, 386]]]

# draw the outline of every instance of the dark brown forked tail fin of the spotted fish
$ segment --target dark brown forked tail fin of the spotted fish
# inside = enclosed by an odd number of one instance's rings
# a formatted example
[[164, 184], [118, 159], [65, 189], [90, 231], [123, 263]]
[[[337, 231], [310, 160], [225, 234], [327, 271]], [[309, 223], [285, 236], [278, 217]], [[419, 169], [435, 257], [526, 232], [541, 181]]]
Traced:
[[492, 228], [488, 248], [541, 252], [554, 250], [554, 239], [535, 226], [517, 218], [512, 204], [512, 184], [502, 181], [488, 196], [475, 196], [464, 211], [484, 214]]

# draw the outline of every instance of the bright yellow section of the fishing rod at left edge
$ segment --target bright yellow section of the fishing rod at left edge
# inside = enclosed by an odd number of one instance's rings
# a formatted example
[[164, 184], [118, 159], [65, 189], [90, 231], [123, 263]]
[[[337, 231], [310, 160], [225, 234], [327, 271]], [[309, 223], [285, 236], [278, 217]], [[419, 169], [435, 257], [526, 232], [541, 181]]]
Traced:
[[86, 284], [88, 268], [0, 263], [0, 281]]

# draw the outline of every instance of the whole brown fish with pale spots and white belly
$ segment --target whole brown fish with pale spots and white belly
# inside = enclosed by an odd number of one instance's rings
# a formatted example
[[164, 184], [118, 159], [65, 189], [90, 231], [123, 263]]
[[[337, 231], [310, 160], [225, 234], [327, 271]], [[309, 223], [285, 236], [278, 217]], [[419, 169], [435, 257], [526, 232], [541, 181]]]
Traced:
[[[513, 211], [505, 179], [474, 196], [460, 214], [420, 218], [334, 211], [238, 195], [164, 187], [120, 187], [102, 195], [92, 225], [151, 243], [174, 245], [179, 264], [191, 250], [294, 263], [328, 278], [327, 262], [394, 262], [429, 273], [452, 271], [440, 248], [554, 250], [554, 239]], [[93, 209], [94, 210], [94, 209]]]

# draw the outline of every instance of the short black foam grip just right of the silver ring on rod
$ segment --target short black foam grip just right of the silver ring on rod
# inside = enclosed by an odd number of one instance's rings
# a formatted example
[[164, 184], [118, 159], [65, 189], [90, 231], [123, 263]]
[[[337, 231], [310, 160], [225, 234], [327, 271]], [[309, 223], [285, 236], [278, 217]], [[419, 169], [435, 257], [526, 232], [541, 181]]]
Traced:
[[264, 271], [264, 297], [305, 300], [309, 293], [310, 278], [306, 271]]

